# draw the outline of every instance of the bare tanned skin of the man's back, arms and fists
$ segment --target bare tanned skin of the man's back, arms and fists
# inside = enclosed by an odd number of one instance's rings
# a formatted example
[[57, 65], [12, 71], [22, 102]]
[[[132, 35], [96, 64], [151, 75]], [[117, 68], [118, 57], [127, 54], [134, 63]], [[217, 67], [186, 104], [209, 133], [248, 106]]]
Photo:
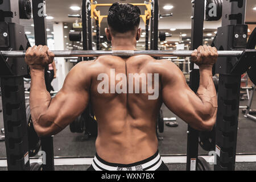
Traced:
[[[90, 101], [98, 122], [98, 155], [111, 163], [130, 164], [155, 154], [158, 148], [156, 118], [163, 102], [195, 129], [211, 130], [216, 121], [217, 97], [210, 65], [200, 67], [200, 87], [197, 96], [188, 87], [180, 69], [168, 60], [155, 60], [146, 55], [128, 59], [101, 56], [94, 61], [77, 64], [69, 72], [63, 88], [51, 100], [44, 84], [44, 69], [40, 67], [51, 63], [53, 59], [54, 55], [47, 49], [33, 47], [28, 49], [26, 54], [32, 78], [32, 120], [40, 137], [59, 133], [84, 111]], [[216, 55], [209, 55], [209, 52], [203, 52], [203, 49], [201, 53], [205, 54], [206, 58], [212, 56], [212, 63], [216, 59]], [[197, 52], [194, 54], [197, 55]], [[196, 55], [192, 55], [193, 59], [202, 61]], [[116, 75], [158, 73], [158, 99], [148, 100], [149, 94], [141, 92], [98, 93], [97, 87], [101, 81], [97, 80], [97, 77], [100, 73], [106, 73], [110, 77], [110, 69], [115, 69]], [[118, 81], [115, 81], [115, 85], [117, 83]]]

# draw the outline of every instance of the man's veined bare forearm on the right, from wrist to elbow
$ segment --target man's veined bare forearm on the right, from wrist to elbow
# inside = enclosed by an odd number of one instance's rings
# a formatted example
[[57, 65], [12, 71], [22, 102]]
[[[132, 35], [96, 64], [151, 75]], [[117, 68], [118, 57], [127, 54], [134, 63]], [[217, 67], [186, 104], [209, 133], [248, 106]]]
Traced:
[[200, 68], [200, 84], [197, 96], [203, 102], [200, 114], [203, 120], [208, 121], [216, 117], [217, 93], [212, 79], [212, 68]]

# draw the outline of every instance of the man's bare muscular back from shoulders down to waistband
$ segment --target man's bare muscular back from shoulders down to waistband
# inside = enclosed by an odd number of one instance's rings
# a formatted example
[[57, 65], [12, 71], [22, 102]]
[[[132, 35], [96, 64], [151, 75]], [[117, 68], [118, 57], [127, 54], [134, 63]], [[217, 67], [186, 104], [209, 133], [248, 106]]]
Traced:
[[130, 164], [157, 151], [155, 127], [162, 105], [158, 67], [150, 56], [101, 56], [89, 63], [96, 150], [102, 159]]

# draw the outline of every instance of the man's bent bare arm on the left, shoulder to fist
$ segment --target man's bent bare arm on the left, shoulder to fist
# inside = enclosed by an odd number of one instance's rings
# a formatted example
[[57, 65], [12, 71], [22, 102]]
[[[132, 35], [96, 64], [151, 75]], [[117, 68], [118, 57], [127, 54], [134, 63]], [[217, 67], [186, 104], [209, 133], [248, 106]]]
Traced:
[[54, 55], [46, 46], [27, 50], [26, 63], [31, 70], [31, 117], [39, 137], [59, 133], [85, 110], [89, 102], [90, 75], [84, 64], [77, 64], [65, 78], [63, 88], [51, 98], [46, 90], [44, 67]]

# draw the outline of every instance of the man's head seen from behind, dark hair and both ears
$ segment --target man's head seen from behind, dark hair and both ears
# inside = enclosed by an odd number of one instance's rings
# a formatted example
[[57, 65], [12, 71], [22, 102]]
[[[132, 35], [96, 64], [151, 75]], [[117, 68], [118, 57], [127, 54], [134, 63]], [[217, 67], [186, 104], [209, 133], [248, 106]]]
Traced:
[[108, 25], [106, 36], [109, 40], [115, 36], [133, 35], [137, 40], [141, 36], [139, 28], [141, 10], [131, 4], [113, 3], [109, 9]]

